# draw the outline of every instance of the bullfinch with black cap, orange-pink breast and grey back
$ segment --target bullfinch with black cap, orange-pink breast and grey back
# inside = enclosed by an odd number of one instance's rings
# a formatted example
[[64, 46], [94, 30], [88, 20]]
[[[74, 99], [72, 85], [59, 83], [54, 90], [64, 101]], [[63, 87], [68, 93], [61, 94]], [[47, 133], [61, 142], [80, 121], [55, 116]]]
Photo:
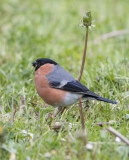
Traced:
[[35, 68], [34, 82], [37, 93], [45, 103], [51, 106], [67, 107], [80, 98], [91, 98], [112, 104], [117, 103], [90, 91], [51, 59], [39, 58], [32, 63], [32, 66]]

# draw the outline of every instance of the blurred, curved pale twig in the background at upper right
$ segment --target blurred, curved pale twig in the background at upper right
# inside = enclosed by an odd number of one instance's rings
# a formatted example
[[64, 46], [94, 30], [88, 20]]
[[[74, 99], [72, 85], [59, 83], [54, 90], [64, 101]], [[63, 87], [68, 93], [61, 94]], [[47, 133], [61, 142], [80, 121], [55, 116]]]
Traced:
[[118, 30], [118, 31], [109, 32], [109, 33], [106, 33], [106, 34], [100, 36], [99, 38], [96, 38], [94, 40], [94, 44], [98, 44], [101, 41], [106, 40], [108, 38], [121, 36], [121, 35], [124, 35], [124, 34], [129, 34], [129, 30]]

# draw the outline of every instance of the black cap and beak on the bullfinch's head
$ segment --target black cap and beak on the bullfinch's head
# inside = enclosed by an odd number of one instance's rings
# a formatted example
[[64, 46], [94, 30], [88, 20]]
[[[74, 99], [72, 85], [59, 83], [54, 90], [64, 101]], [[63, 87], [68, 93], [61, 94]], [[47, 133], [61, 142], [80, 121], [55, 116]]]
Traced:
[[51, 59], [39, 58], [32, 63], [32, 66], [35, 68], [35, 71], [36, 71], [37, 69], [39, 69], [42, 65], [44, 65], [46, 63], [57, 65], [57, 63], [55, 61], [51, 60]]

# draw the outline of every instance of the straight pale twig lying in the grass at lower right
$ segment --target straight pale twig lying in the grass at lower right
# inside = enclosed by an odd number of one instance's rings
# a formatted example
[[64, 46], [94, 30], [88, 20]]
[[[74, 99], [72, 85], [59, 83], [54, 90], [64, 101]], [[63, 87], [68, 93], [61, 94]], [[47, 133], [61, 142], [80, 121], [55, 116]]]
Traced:
[[106, 130], [114, 134], [116, 137], [119, 137], [124, 143], [126, 143], [129, 146], [129, 140], [126, 137], [124, 137], [121, 133], [116, 131], [114, 128], [108, 127], [106, 128]]

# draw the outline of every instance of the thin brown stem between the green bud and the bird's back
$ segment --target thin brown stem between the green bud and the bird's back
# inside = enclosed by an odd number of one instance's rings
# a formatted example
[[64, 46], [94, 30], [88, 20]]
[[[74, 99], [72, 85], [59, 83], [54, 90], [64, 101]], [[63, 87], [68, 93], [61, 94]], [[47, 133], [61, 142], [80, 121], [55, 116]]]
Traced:
[[81, 70], [80, 70], [80, 74], [79, 74], [79, 77], [78, 77], [78, 81], [81, 80], [83, 69], [84, 69], [84, 65], [85, 65], [87, 42], [88, 42], [88, 27], [86, 27], [85, 47], [84, 47], [84, 53], [83, 53], [83, 58], [82, 58], [82, 65], [81, 65]]

